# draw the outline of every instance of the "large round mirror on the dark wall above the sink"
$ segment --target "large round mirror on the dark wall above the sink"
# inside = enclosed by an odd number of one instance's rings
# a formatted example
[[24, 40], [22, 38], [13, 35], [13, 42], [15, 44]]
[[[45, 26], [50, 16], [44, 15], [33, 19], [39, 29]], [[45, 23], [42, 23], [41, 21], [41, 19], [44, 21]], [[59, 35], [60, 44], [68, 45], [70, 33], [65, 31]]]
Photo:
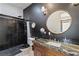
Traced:
[[56, 11], [52, 13], [46, 22], [49, 31], [60, 34], [69, 29], [72, 18], [66, 11]]

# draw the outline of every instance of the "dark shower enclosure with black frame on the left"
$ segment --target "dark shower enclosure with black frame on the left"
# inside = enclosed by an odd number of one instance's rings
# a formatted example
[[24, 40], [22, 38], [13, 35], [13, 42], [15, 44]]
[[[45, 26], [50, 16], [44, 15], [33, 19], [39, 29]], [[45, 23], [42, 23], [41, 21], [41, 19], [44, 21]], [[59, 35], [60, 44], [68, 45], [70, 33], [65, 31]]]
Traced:
[[23, 19], [0, 15], [0, 50], [23, 43]]

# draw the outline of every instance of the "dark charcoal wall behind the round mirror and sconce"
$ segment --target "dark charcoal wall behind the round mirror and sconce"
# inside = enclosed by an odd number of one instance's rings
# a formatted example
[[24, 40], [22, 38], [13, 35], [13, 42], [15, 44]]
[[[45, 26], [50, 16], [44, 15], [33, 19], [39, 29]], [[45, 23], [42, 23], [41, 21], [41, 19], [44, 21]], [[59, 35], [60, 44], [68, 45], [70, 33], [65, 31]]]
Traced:
[[[47, 15], [44, 15], [41, 11], [41, 7], [45, 6], [47, 10]], [[33, 3], [28, 8], [24, 9], [24, 19], [30, 17], [30, 20], [36, 23], [35, 29], [32, 29], [32, 36], [39, 38], [49, 38], [48, 34], [43, 35], [40, 33], [40, 28], [45, 28], [48, 32], [49, 30], [46, 27], [46, 21], [48, 16], [58, 10], [67, 11], [72, 17], [71, 27], [62, 34], [52, 33], [52, 38], [55, 37], [57, 40], [64, 41], [63, 39], [67, 38], [68, 42], [79, 44], [79, 6], [73, 6], [71, 3]]]

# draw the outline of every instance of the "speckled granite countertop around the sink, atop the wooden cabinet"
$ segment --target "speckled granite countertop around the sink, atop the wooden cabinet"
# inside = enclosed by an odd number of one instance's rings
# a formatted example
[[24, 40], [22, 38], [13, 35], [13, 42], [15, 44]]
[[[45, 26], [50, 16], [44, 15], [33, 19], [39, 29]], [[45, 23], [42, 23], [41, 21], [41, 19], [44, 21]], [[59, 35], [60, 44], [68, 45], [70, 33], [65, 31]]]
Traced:
[[[43, 46], [45, 46], [49, 49], [55, 48], [55, 51], [64, 52], [66, 55], [79, 56], [79, 45], [57, 42], [57, 41], [42, 39], [42, 38], [36, 39], [36, 40], [34, 40], [34, 42], [38, 42], [39, 44], [41, 44], [41, 45], [43, 45]], [[46, 44], [47, 42], [60, 43], [61, 46], [56, 47], [56, 46], [53, 46], [53, 45]]]

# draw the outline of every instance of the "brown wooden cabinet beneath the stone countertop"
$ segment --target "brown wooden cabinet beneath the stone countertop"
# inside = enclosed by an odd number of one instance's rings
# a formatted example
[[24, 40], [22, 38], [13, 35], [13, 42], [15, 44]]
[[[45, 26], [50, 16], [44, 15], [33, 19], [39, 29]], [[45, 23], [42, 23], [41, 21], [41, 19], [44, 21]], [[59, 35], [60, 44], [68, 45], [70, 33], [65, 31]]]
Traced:
[[55, 51], [55, 48], [47, 48], [37, 42], [33, 42], [33, 51], [35, 56], [64, 56], [63, 52]]

